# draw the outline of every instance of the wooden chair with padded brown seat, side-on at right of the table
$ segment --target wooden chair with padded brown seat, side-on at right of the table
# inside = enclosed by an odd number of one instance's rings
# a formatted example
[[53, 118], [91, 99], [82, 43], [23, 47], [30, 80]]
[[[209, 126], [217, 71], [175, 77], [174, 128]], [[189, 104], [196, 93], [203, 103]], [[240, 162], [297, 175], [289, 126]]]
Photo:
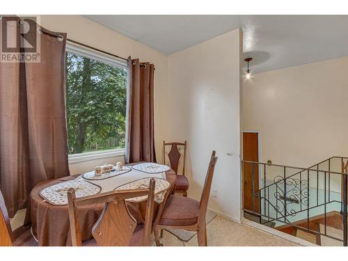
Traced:
[[159, 243], [159, 231], [165, 228], [184, 229], [196, 231], [198, 237], [198, 246], [207, 246], [207, 231], [205, 216], [207, 214], [207, 205], [209, 200], [210, 188], [212, 187], [212, 178], [217, 161], [215, 151], [210, 158], [207, 175], [203, 186], [200, 202], [192, 198], [166, 194], [166, 205], [163, 209], [159, 208], [158, 219], [154, 224], [154, 233], [157, 246]]

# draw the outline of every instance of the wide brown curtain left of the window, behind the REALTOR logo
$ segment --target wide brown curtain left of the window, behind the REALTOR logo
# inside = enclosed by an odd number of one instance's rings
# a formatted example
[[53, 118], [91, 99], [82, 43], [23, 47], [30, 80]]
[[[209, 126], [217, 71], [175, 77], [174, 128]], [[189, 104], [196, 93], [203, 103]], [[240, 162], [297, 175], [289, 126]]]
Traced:
[[[38, 26], [32, 20], [27, 22]], [[11, 37], [19, 38], [18, 30], [14, 34]], [[0, 189], [9, 216], [26, 207], [35, 184], [70, 175], [65, 118], [66, 34], [58, 34], [62, 38], [39, 34], [40, 63], [0, 63]], [[25, 37], [35, 35], [27, 33]]]

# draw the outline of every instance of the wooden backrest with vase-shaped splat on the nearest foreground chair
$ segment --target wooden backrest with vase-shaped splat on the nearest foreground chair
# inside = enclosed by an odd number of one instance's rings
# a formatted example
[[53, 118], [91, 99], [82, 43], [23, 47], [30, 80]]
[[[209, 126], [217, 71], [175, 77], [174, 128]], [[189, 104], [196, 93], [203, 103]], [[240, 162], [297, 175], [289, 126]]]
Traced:
[[81, 246], [81, 231], [77, 207], [94, 203], [105, 203], [102, 214], [92, 229], [98, 246], [129, 246], [136, 220], [129, 214], [125, 200], [148, 196], [143, 233], [143, 246], [150, 246], [152, 215], [155, 200], [155, 179], [150, 180], [148, 189], [125, 189], [76, 198], [74, 189], [68, 189], [68, 205], [72, 246]]

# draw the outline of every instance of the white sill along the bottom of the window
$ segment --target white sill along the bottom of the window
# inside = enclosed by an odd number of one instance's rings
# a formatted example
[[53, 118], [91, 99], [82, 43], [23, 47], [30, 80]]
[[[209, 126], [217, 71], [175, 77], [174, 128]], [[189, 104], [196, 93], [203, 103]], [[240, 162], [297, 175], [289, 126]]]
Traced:
[[125, 156], [125, 149], [120, 150], [100, 150], [69, 155], [69, 164], [90, 161], [94, 159], [107, 159], [111, 157]]

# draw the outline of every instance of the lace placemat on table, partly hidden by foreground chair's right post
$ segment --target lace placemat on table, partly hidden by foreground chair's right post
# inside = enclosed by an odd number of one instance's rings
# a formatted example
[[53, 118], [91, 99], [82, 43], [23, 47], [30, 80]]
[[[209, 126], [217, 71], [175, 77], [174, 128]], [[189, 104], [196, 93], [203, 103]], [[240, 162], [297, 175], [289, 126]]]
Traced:
[[[123, 184], [120, 187], [117, 187], [115, 190], [120, 189], [147, 189], [150, 185], [151, 177], [145, 177], [140, 180], [134, 180], [133, 182], [129, 182], [127, 184]], [[164, 200], [164, 196], [166, 195], [167, 189], [171, 187], [171, 183], [164, 179], [160, 179], [155, 177], [155, 201], [157, 203], [161, 203]], [[148, 196], [141, 196], [136, 198], [129, 198], [127, 201], [129, 202], [141, 202], [147, 200]]]

